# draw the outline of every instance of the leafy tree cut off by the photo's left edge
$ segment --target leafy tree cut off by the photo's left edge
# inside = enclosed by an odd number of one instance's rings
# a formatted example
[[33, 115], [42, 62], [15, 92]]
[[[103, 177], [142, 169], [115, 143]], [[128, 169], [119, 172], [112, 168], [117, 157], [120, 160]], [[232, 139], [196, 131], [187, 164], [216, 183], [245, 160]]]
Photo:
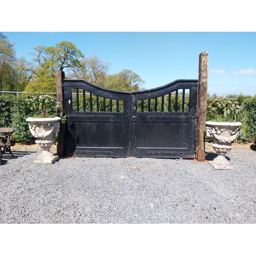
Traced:
[[0, 32], [0, 91], [13, 85], [13, 66], [15, 65], [14, 44]]

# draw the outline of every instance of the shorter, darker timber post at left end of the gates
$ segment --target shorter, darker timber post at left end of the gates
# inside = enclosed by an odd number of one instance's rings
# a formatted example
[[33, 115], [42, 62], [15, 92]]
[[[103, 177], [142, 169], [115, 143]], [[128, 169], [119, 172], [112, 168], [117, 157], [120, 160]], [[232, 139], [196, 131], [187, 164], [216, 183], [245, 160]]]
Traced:
[[[57, 92], [57, 102], [61, 103], [61, 108], [63, 110], [63, 90], [62, 82], [65, 78], [65, 73], [61, 70], [55, 72], [56, 75], [56, 92]], [[66, 138], [66, 124], [60, 123], [59, 133], [58, 133], [58, 145], [57, 145], [57, 155], [59, 157], [65, 156], [65, 138]]]

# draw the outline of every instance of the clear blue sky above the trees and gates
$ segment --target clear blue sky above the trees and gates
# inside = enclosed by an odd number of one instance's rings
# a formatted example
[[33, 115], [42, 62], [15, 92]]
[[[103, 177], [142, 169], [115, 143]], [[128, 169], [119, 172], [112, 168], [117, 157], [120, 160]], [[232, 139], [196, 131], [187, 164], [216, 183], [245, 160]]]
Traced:
[[199, 55], [208, 52], [208, 93], [256, 94], [256, 32], [3, 32], [17, 57], [38, 45], [73, 42], [86, 56], [111, 63], [109, 74], [137, 73], [146, 89], [198, 79]]

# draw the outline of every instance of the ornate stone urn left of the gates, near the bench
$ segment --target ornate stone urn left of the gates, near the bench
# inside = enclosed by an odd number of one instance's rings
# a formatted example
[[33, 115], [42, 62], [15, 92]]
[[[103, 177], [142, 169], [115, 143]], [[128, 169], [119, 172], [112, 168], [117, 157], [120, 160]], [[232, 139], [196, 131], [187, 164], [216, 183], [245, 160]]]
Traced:
[[42, 150], [38, 158], [34, 159], [34, 163], [53, 163], [59, 158], [50, 152], [50, 147], [55, 142], [53, 135], [59, 132], [60, 120], [60, 117], [26, 119], [31, 134], [37, 139], [35, 143]]

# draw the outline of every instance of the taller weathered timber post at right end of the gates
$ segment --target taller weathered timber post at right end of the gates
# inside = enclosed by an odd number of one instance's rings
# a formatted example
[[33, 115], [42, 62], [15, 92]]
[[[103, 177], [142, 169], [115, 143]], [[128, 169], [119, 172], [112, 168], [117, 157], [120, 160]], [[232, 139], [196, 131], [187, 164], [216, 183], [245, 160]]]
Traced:
[[199, 55], [199, 76], [200, 89], [198, 92], [197, 108], [197, 161], [205, 160], [205, 122], [207, 108], [207, 86], [208, 86], [208, 52]]

